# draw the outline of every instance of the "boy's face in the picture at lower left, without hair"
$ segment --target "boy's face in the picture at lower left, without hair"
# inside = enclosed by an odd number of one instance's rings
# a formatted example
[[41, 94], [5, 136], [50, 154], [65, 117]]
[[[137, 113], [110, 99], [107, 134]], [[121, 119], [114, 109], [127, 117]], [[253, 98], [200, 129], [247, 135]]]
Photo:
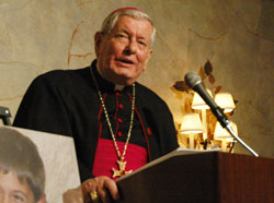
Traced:
[[0, 171], [0, 203], [34, 203], [28, 186], [20, 182], [15, 172]]

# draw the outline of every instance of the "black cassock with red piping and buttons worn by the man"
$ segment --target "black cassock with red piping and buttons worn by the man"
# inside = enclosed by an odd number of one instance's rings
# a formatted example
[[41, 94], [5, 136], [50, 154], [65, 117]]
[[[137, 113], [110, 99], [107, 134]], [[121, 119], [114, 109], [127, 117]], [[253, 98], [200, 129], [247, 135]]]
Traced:
[[[117, 141], [125, 142], [132, 111], [132, 86], [122, 92], [92, 71], [105, 99]], [[37, 76], [26, 91], [14, 127], [72, 136], [81, 181], [93, 177], [92, 166], [99, 138], [112, 136], [90, 67], [55, 70]], [[147, 148], [148, 162], [178, 147], [172, 115], [152, 91], [136, 82], [134, 127], [129, 143]], [[61, 150], [61, 148], [60, 148]]]

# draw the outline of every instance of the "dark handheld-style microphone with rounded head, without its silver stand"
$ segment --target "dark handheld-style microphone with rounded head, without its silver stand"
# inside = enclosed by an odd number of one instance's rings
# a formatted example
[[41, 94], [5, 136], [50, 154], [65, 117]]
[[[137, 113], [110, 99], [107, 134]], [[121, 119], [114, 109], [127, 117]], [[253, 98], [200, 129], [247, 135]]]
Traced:
[[228, 118], [203, 86], [201, 76], [194, 72], [189, 72], [185, 74], [184, 81], [192, 89], [198, 93], [198, 95], [210, 107], [213, 114], [215, 115], [221, 127], [226, 128], [229, 124]]

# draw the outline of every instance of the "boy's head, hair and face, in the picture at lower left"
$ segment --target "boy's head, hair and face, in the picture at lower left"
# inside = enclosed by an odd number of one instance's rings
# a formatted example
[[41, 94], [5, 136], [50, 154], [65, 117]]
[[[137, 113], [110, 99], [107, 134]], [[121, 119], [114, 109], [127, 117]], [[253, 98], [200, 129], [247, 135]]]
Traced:
[[36, 145], [7, 131], [0, 132], [0, 203], [45, 203], [45, 167]]

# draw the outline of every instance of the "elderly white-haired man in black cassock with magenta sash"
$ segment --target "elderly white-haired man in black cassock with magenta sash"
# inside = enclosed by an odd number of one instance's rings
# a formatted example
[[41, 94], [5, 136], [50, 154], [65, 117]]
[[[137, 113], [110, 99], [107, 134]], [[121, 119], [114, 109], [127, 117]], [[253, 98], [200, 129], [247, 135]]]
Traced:
[[22, 100], [14, 126], [73, 136], [85, 202], [117, 200], [115, 179], [178, 147], [167, 104], [136, 82], [155, 33], [140, 10], [114, 11], [95, 34], [91, 67], [43, 74]]

